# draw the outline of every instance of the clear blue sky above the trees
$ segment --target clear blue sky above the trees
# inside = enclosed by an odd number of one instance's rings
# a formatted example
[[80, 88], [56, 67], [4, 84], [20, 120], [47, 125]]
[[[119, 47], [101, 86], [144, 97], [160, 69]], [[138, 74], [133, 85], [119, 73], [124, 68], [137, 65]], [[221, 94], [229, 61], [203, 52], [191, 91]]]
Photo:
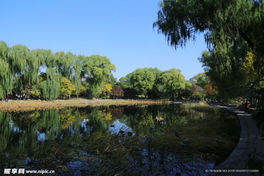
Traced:
[[134, 1], [3, 1], [0, 40], [29, 49], [107, 56], [117, 80], [137, 68], [179, 68], [186, 79], [203, 72], [203, 35], [175, 50], [152, 28], [158, 2]]

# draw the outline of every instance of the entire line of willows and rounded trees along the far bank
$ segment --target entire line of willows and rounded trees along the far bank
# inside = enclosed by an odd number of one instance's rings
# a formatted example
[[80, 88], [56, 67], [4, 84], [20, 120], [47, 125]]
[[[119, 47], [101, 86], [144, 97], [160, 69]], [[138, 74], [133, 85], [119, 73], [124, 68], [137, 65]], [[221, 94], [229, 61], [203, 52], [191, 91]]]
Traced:
[[[0, 62], [0, 98], [11, 89], [44, 99], [56, 99], [59, 95], [65, 98], [70, 94], [78, 98], [80, 93], [101, 98], [138, 94], [145, 98], [171, 96], [173, 100], [175, 96], [201, 96], [195, 84], [187, 82], [181, 70], [175, 68], [165, 71], [138, 68], [117, 81], [111, 74], [115, 72], [115, 65], [106, 56], [30, 50], [24, 45], [9, 47], [1, 41]], [[40, 73], [41, 69], [46, 72]], [[204, 85], [199, 86], [204, 89]]]

